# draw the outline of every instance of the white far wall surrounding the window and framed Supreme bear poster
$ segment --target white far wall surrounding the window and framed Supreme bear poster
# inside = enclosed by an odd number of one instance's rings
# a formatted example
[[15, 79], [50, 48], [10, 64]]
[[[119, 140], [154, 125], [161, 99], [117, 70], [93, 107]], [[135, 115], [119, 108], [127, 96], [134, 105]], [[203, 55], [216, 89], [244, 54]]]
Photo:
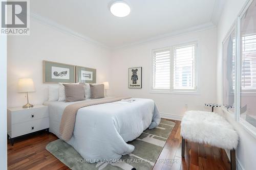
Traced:
[[[216, 102], [216, 29], [208, 29], [147, 44], [116, 50], [112, 53], [110, 94], [153, 99], [160, 112], [182, 116], [186, 110], [204, 110], [206, 102]], [[151, 53], [153, 49], [198, 41], [200, 95], [150, 93]], [[128, 68], [142, 66], [142, 89], [128, 88]]]

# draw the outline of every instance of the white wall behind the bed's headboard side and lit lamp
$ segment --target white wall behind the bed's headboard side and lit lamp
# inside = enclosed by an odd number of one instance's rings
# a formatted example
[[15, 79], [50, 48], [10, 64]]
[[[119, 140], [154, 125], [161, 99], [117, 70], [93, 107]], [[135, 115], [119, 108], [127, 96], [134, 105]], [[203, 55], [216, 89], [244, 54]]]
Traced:
[[31, 20], [30, 36], [8, 37], [8, 107], [26, 104], [24, 93], [17, 93], [19, 78], [32, 78], [36, 92], [29, 93], [31, 104], [48, 98], [42, 83], [42, 60], [97, 69], [97, 83], [109, 80], [110, 50], [60, 32]]

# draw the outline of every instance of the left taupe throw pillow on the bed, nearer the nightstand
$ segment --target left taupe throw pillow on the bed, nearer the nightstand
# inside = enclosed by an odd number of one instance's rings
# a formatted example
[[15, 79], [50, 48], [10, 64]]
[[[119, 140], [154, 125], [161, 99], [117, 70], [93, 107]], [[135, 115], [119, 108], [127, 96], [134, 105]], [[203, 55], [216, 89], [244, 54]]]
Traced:
[[66, 102], [86, 100], [84, 98], [83, 84], [63, 84], [66, 93]]

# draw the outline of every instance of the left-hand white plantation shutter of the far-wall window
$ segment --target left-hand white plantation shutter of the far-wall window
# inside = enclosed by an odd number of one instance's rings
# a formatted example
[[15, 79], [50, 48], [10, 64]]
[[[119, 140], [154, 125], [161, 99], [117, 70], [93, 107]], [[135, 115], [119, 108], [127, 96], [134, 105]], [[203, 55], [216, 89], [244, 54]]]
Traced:
[[153, 88], [170, 89], [170, 49], [153, 52]]

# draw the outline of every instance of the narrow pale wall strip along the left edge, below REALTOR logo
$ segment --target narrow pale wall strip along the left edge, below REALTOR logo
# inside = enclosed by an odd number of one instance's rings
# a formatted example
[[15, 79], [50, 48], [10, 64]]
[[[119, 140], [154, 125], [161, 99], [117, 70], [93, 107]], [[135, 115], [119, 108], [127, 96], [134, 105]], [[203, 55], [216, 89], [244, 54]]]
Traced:
[[0, 169], [7, 169], [7, 36], [0, 36]]

